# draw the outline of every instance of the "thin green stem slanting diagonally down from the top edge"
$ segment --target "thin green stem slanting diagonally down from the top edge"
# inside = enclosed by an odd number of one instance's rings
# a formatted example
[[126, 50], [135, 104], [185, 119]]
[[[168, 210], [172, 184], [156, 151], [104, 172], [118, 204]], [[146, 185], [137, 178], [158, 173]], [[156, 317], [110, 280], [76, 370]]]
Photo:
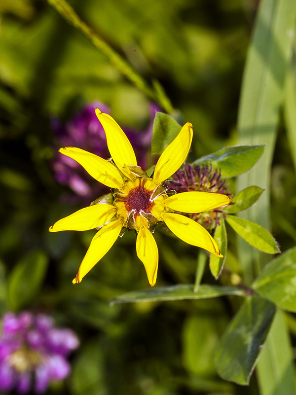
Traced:
[[[159, 83], [153, 84], [150, 88], [145, 79], [136, 72], [129, 63], [123, 59], [106, 41], [104, 41], [97, 33], [95, 33], [79, 16], [75, 13], [74, 9], [65, 0], [47, 0], [72, 26], [80, 30], [96, 48], [102, 51], [111, 64], [128, 78], [139, 90], [144, 92], [151, 100], [157, 102], [166, 112], [173, 112], [174, 108], [165, 95], [163, 89], [159, 90]], [[156, 87], [158, 89], [156, 89]]]

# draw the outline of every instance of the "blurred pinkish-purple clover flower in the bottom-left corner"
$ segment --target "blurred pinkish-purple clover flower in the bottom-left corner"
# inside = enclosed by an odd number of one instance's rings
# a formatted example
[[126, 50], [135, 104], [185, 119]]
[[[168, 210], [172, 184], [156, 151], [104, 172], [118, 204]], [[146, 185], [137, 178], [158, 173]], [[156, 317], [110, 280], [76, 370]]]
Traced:
[[75, 333], [54, 327], [49, 316], [6, 313], [0, 337], [0, 391], [14, 389], [23, 395], [33, 389], [43, 394], [51, 381], [70, 374], [67, 357], [78, 346]]

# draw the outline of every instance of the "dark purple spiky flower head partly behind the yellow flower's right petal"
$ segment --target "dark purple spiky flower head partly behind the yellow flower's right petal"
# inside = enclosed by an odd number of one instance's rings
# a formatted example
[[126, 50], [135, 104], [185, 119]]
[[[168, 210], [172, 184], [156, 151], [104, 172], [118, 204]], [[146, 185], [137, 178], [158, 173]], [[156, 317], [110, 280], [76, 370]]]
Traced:
[[[192, 167], [189, 164], [184, 165], [174, 175], [173, 180], [167, 181], [167, 187], [170, 191], [177, 193], [187, 191], [202, 191], [221, 193], [230, 198], [233, 197], [232, 193], [228, 191], [226, 180], [221, 177], [221, 170], [213, 171], [212, 165]], [[223, 208], [204, 211], [202, 213], [186, 214], [189, 218], [200, 223], [204, 228], [211, 231], [217, 225], [220, 225], [219, 219], [226, 215], [223, 213]]]

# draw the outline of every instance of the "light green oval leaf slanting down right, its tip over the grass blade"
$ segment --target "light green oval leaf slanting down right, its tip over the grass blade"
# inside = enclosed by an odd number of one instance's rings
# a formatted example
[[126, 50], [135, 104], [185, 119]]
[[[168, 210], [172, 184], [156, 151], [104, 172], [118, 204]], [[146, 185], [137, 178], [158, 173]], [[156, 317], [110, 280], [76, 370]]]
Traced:
[[251, 246], [269, 254], [280, 252], [271, 233], [258, 223], [234, 215], [227, 215], [226, 221]]

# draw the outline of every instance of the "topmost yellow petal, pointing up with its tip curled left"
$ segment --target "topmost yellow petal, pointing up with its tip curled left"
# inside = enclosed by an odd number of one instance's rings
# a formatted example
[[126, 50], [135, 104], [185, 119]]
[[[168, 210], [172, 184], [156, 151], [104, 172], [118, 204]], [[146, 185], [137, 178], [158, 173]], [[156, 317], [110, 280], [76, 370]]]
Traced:
[[[114, 119], [99, 108], [96, 108], [96, 115], [101, 122], [107, 137], [107, 144], [111, 157], [117, 167], [124, 172], [124, 168], [129, 165], [137, 165], [137, 159], [132, 144], [125, 133]], [[129, 176], [130, 172], [128, 172]]]

